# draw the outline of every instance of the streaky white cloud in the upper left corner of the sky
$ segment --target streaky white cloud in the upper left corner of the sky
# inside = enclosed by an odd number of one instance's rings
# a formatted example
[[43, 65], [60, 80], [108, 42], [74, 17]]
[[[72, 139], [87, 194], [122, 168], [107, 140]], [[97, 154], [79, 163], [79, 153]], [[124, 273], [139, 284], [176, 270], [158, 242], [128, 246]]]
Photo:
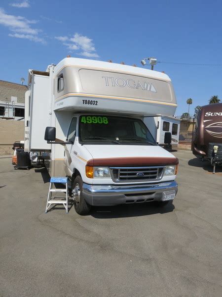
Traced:
[[0, 25], [7, 27], [11, 32], [13, 32], [13, 34], [9, 35], [11, 37], [24, 38], [44, 43], [44, 40], [38, 37], [38, 33], [41, 30], [31, 27], [31, 24], [36, 23], [37, 21], [28, 20], [23, 16], [7, 14], [2, 8], [0, 8]]

